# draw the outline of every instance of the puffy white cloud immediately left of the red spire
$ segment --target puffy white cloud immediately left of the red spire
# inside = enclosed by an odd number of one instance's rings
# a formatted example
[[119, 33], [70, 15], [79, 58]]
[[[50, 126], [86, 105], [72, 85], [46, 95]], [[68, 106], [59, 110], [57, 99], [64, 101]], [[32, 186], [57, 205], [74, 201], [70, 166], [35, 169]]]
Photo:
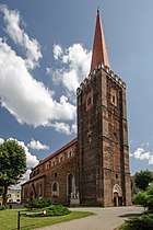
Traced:
[[[55, 83], [62, 83], [68, 91], [75, 93], [76, 88], [90, 73], [92, 51], [83, 48], [81, 44], [73, 44], [67, 49], [61, 46], [54, 46], [54, 57], [61, 65], [61, 69], [47, 68]], [[66, 68], [67, 67], [67, 68]]]

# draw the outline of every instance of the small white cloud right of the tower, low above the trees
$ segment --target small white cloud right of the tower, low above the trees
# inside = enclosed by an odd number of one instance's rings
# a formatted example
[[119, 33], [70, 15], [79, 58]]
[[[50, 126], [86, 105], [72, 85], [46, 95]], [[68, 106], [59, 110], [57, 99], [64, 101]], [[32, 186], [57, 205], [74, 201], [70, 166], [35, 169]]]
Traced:
[[148, 160], [149, 164], [153, 164], [153, 153], [144, 150], [144, 148], [137, 148], [133, 153], [130, 153], [130, 157], [134, 157], [139, 160]]

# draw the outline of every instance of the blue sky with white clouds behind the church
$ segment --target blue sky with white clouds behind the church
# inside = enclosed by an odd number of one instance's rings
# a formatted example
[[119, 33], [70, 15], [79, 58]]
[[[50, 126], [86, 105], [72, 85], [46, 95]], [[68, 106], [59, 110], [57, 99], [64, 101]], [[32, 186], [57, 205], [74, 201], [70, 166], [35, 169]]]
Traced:
[[99, 7], [113, 71], [127, 83], [130, 172], [153, 170], [153, 1], [0, 0], [0, 142], [39, 160], [76, 137]]

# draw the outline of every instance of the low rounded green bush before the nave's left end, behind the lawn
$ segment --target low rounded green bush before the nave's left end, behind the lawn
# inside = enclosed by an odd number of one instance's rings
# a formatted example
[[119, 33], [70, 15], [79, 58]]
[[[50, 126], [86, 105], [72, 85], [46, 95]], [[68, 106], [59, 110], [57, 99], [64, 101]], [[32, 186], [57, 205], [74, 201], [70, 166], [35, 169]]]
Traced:
[[27, 202], [24, 204], [24, 207], [32, 210], [32, 209], [45, 208], [50, 206], [51, 204], [52, 204], [51, 199], [42, 198], [42, 199], [33, 199], [31, 202]]

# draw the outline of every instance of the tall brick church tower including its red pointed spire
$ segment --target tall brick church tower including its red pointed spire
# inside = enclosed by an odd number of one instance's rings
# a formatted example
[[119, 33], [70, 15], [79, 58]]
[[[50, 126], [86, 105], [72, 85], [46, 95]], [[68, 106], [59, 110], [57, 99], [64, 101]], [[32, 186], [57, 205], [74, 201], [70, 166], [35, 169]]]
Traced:
[[131, 205], [126, 83], [110, 69], [98, 11], [91, 72], [76, 94], [80, 199]]

